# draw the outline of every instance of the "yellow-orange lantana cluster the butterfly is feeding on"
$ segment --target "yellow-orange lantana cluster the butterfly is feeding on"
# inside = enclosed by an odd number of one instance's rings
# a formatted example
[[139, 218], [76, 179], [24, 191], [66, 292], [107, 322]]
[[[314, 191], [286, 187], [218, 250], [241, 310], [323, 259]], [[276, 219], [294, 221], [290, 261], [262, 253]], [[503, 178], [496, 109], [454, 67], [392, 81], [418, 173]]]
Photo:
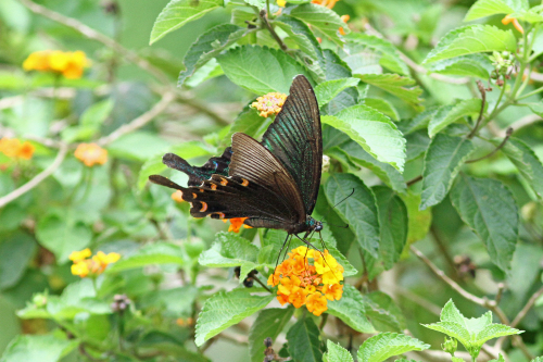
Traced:
[[[313, 265], [310, 264], [313, 259]], [[268, 285], [279, 286], [277, 300], [295, 308], [305, 305], [315, 315], [328, 309], [328, 300], [340, 300], [343, 295], [343, 266], [328, 250], [320, 253], [306, 247], [289, 252], [289, 259], [276, 267], [268, 278]]]

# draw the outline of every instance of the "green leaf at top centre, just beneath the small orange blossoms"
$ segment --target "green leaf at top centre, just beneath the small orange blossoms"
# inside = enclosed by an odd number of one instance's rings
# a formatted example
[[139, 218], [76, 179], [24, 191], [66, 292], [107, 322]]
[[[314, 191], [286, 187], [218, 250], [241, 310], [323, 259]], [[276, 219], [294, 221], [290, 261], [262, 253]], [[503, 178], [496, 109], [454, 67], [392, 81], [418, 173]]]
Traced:
[[339, 46], [343, 45], [343, 41], [338, 35], [339, 28], [343, 27], [346, 34], [350, 33], [349, 27], [343, 23], [338, 13], [326, 7], [305, 3], [292, 9], [290, 15], [310, 24]]

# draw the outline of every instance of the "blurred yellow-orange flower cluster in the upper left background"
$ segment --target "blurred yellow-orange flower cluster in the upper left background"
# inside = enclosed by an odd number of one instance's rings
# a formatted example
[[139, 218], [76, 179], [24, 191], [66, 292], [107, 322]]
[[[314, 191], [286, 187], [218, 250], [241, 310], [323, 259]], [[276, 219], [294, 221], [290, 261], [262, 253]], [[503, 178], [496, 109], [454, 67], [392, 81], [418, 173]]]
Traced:
[[78, 79], [85, 67], [90, 65], [85, 52], [42, 50], [35, 51], [23, 62], [25, 71], [50, 72], [62, 74], [68, 79]]

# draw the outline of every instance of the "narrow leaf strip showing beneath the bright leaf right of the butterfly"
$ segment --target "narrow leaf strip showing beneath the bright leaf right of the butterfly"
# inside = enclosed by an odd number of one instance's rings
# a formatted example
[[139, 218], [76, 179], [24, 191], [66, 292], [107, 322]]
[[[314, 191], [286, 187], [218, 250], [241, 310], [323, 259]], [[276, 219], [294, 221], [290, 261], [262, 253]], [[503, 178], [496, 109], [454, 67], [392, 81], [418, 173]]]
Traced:
[[353, 162], [371, 170], [384, 184], [395, 191], [404, 192], [407, 188], [402, 174], [396, 168], [388, 163], [377, 161], [355, 141], [350, 140], [337, 147], [337, 149], [349, 155]]

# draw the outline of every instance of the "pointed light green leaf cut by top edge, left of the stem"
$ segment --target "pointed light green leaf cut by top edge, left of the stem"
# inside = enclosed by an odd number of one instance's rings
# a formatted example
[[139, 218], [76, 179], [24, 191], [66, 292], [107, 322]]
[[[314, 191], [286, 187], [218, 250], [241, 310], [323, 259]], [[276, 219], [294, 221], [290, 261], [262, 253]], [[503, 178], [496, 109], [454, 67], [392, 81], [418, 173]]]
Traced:
[[171, 0], [154, 22], [149, 43], [222, 5], [223, 0]]

